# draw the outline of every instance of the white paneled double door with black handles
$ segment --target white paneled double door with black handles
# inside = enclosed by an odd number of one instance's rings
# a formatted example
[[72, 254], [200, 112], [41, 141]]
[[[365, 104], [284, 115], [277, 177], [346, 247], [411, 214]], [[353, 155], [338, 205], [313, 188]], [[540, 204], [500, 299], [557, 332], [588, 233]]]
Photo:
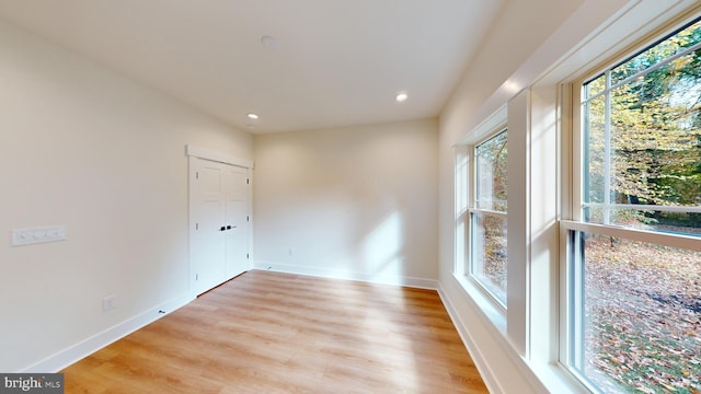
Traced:
[[191, 288], [217, 287], [249, 266], [248, 169], [191, 158]]

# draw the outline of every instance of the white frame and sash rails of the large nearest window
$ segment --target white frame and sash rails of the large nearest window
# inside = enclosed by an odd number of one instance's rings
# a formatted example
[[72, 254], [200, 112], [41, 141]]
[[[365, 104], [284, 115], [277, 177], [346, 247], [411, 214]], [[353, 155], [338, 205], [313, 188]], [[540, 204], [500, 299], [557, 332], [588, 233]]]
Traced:
[[[586, 204], [584, 200], [584, 124], [583, 124], [583, 106], [582, 106], [582, 88], [591, 77], [600, 74], [602, 72], [609, 72], [610, 67], [620, 63], [631, 55], [636, 54], [639, 50], [644, 50], [651, 46], [654, 46], [656, 42], [669, 33], [677, 31], [680, 26], [691, 22], [699, 18], [701, 10], [697, 9], [692, 13], [682, 15], [681, 18], [674, 19], [668, 22], [664, 30], [657, 30], [655, 34], [648, 34], [644, 40], [639, 40], [633, 46], [633, 49], [625, 50], [622, 56], [617, 56], [614, 60], [609, 60], [604, 66], [589, 70], [582, 74], [581, 78], [574, 79], [571, 83], [564, 86], [564, 99], [561, 100], [561, 106], [563, 111], [572, 116], [572, 139], [563, 138], [563, 150], [570, 152], [568, 158], [563, 158], [563, 184], [570, 186], [570, 192], [564, 194], [563, 217], [570, 219], [561, 219], [560, 223], [560, 350], [559, 350], [559, 363], [566, 370], [575, 375], [579, 383], [587, 387], [591, 392], [598, 392], [598, 390], [587, 381], [585, 376], [581, 376], [575, 367], [572, 366], [575, 358], [582, 355], [576, 354], [577, 347], [574, 341], [582, 340], [582, 327], [577, 327], [573, 324], [574, 314], [583, 312], [583, 300], [581, 299], [582, 287], [582, 274], [578, 273], [579, 268], [572, 262], [573, 251], [572, 239], [573, 234], [577, 233], [590, 233], [605, 236], [614, 236], [619, 239], [625, 239], [635, 242], [653, 243], [662, 246], [677, 247], [689, 251], [701, 252], [701, 242], [699, 237], [689, 236], [685, 234], [671, 234], [654, 231], [636, 230], [632, 228], [623, 228], [616, 224], [606, 223], [591, 223], [585, 222], [583, 218], [584, 207], [588, 206], [604, 206], [605, 204]], [[608, 88], [607, 88], [608, 89]], [[609, 108], [607, 108], [607, 112]], [[608, 128], [608, 126], [607, 126]], [[607, 155], [610, 157], [607, 148]], [[566, 175], [567, 172], [570, 175]], [[608, 195], [606, 193], [606, 195]], [[608, 197], [608, 196], [607, 196]], [[662, 206], [643, 206], [643, 205], [622, 205], [622, 204], [608, 204], [607, 207], [602, 207], [605, 211], [616, 208], [634, 208], [634, 209], [655, 209], [666, 211], [687, 211], [687, 212], [701, 212], [701, 207], [662, 207]]]

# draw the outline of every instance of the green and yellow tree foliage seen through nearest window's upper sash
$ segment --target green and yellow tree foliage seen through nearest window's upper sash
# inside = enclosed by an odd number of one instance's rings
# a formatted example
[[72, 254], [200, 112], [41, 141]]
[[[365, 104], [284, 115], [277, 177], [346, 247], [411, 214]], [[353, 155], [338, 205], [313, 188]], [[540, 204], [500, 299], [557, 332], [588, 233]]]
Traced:
[[[699, 43], [701, 22], [585, 84], [587, 201], [604, 201], [608, 183], [611, 202], [701, 205], [701, 48], [670, 59]], [[608, 118], [606, 96], [596, 96], [607, 77]]]

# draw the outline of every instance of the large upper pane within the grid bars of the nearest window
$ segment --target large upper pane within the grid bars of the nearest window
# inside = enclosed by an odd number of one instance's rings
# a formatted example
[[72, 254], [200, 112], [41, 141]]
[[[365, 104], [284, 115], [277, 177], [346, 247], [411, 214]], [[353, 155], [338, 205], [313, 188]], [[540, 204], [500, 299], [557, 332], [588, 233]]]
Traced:
[[690, 61], [681, 57], [611, 93], [614, 202], [701, 202], [701, 62], [693, 79], [677, 71]]

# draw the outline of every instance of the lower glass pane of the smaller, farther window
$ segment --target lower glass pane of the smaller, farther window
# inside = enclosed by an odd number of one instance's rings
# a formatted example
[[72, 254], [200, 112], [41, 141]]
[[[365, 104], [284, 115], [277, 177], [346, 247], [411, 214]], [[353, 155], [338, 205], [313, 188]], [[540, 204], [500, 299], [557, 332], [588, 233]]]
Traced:
[[506, 219], [472, 213], [472, 276], [506, 305]]

